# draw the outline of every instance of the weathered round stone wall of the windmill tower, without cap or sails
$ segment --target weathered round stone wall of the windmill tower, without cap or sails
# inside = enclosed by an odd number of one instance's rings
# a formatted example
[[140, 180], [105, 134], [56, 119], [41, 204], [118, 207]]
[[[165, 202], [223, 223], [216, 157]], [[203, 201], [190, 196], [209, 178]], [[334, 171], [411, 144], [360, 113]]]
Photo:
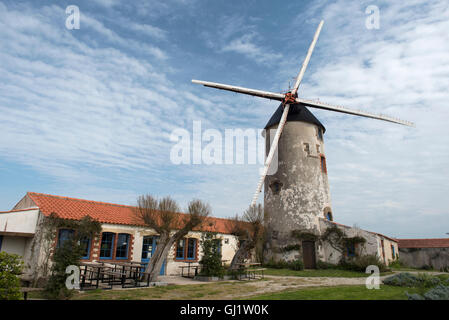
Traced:
[[[275, 129], [277, 126], [269, 129]], [[319, 127], [302, 121], [285, 124], [278, 145], [277, 172], [265, 180], [267, 244], [264, 258], [294, 260], [298, 252], [279, 249], [297, 243], [293, 230], [319, 234], [320, 217], [331, 211], [327, 171], [322, 170], [324, 142]], [[321, 130], [321, 129], [320, 129]], [[274, 130], [267, 131], [266, 150]], [[317, 254], [320, 254], [316, 248]]]

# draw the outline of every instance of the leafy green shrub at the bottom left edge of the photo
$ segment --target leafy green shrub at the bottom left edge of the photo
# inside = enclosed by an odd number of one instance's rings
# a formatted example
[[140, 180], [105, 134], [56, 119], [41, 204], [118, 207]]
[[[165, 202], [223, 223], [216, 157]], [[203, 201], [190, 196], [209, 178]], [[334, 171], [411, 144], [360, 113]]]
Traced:
[[0, 300], [20, 299], [20, 279], [22, 272], [20, 256], [0, 252]]

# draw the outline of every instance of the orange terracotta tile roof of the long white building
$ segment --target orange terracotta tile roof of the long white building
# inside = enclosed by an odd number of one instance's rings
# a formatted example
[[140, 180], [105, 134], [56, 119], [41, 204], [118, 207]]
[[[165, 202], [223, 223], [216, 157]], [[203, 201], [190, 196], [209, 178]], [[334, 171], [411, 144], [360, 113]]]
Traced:
[[[135, 207], [121, 204], [113, 204], [99, 201], [83, 200], [69, 197], [61, 197], [49, 194], [28, 192], [27, 195], [34, 201], [36, 206], [45, 215], [56, 213], [60, 218], [79, 220], [89, 215], [101, 223], [123, 224], [143, 226], [134, 213]], [[208, 217], [201, 227], [195, 231], [212, 231], [229, 233], [228, 219]]]

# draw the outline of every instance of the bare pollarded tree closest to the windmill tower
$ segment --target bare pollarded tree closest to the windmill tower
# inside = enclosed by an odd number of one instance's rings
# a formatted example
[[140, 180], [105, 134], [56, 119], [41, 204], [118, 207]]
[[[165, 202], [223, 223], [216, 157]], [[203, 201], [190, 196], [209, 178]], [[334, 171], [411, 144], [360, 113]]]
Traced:
[[261, 204], [250, 206], [240, 218], [236, 215], [228, 222], [228, 231], [239, 238], [239, 248], [232, 258], [231, 270], [238, 269], [238, 264], [243, 263], [251, 250], [256, 248], [263, 235], [264, 210]]

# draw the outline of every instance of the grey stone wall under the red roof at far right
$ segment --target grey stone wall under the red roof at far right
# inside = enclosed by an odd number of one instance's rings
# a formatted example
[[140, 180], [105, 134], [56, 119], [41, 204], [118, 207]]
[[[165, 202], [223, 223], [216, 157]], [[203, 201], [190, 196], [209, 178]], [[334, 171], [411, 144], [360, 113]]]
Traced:
[[399, 259], [413, 268], [449, 268], [449, 248], [400, 248]]

